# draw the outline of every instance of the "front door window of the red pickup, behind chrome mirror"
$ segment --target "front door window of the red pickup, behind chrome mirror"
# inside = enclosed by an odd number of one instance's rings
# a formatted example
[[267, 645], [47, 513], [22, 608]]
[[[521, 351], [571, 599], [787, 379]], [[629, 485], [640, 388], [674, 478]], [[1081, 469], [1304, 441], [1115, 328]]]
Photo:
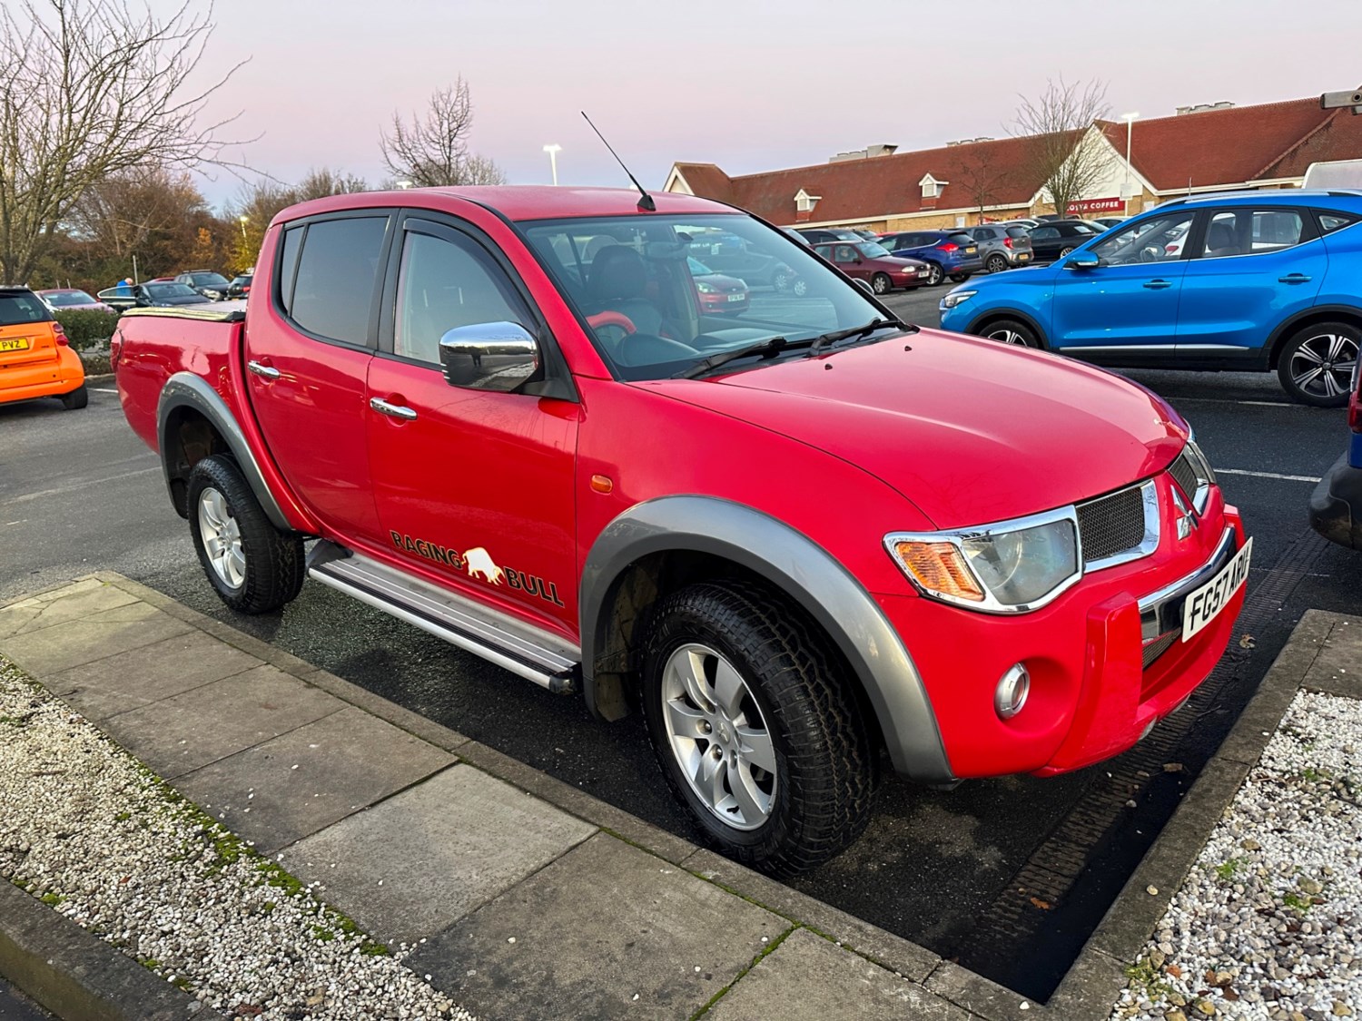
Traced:
[[396, 355], [439, 365], [440, 338], [455, 327], [527, 321], [501, 267], [471, 238], [454, 237], [406, 234], [392, 329]]

